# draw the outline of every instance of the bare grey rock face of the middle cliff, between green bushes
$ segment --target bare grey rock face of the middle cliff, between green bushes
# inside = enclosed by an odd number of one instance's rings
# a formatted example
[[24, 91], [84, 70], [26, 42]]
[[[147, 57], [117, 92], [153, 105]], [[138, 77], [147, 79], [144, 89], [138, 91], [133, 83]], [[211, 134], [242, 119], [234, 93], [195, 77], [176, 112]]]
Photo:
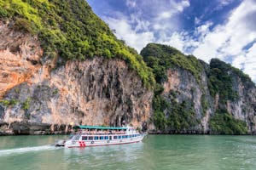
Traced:
[[[209, 118], [214, 113], [215, 109], [214, 99], [212, 99], [207, 87], [206, 72], [201, 73], [201, 84], [199, 84], [189, 71], [178, 67], [169, 69], [167, 71], [167, 80], [163, 82], [162, 85], [164, 91], [161, 96], [163, 96], [164, 99], [171, 102], [172, 98], [174, 98], [177, 100], [177, 103], [187, 101], [189, 104], [193, 105], [195, 119], [201, 122], [195, 127], [190, 127], [189, 132], [184, 131], [180, 133], [208, 133]], [[176, 95], [173, 96], [173, 93]], [[201, 105], [202, 97], [207, 100], [207, 103], [212, 104], [208, 105], [206, 111], [204, 111]]]

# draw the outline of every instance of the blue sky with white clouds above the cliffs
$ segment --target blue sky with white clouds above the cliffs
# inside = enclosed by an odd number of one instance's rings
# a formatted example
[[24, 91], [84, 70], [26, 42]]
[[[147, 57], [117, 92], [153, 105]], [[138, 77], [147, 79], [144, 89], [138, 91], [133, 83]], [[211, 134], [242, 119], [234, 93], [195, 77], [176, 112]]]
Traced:
[[256, 82], [256, 0], [87, 0], [119, 39], [157, 42], [209, 63], [222, 59]]

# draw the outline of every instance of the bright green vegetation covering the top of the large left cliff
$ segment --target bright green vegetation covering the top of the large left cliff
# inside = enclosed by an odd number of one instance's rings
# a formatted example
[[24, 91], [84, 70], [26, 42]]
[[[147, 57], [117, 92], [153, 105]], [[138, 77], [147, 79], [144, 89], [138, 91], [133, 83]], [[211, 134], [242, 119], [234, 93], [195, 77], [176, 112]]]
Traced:
[[84, 0], [0, 0], [0, 18], [37, 35], [44, 57], [124, 59], [147, 86], [154, 82], [143, 57], [114, 37]]

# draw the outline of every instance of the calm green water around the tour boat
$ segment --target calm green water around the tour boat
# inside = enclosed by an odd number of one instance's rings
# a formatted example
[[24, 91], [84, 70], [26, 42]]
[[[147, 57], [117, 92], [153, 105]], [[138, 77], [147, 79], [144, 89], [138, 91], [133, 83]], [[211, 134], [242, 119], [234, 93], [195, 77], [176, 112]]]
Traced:
[[149, 135], [137, 144], [50, 145], [63, 138], [0, 137], [0, 169], [256, 169], [256, 136]]

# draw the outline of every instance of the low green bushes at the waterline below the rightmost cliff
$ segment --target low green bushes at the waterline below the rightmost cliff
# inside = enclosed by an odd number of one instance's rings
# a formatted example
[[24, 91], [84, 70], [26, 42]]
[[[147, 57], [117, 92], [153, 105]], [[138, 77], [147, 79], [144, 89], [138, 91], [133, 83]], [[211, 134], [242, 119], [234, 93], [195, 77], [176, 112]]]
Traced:
[[216, 111], [210, 119], [212, 134], [246, 134], [247, 124], [237, 120], [228, 111]]

